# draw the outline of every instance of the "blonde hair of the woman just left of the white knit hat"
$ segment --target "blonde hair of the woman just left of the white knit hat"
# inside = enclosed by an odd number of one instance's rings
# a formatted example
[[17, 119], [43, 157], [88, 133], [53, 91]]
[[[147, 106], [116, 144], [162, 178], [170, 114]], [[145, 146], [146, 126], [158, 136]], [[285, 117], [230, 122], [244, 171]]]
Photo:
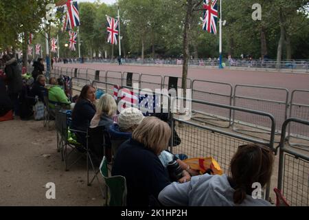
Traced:
[[108, 117], [113, 116], [117, 111], [117, 104], [115, 99], [110, 94], [104, 94], [101, 96], [97, 104], [97, 114], [102, 115], [103, 113]]

